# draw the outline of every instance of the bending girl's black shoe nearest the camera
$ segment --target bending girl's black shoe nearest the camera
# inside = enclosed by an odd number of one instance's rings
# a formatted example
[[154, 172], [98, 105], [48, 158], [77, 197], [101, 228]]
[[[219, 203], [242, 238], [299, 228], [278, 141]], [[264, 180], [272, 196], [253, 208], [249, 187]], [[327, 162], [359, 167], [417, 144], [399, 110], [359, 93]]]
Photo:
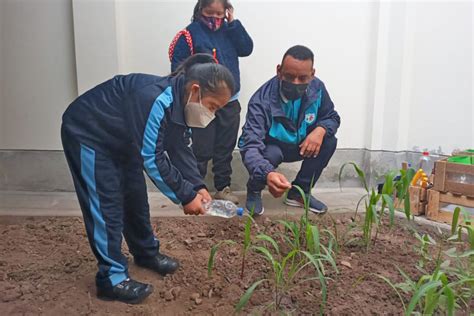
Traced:
[[140, 283], [130, 278], [113, 287], [97, 287], [97, 298], [127, 304], [141, 303], [151, 293], [153, 293], [153, 285]]

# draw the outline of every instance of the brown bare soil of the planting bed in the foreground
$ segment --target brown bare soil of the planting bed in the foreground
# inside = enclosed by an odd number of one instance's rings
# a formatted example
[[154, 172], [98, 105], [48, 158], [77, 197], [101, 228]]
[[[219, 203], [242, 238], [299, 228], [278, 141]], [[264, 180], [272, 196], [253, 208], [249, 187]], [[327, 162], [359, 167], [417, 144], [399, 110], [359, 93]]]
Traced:
[[[352, 214], [310, 215], [311, 222], [333, 230], [337, 224], [341, 235], [351, 223]], [[285, 218], [284, 216], [281, 218]], [[293, 219], [298, 220], [297, 217]], [[334, 221], [333, 221], [334, 220]], [[328, 269], [328, 299], [324, 313], [330, 315], [371, 315], [403, 313], [402, 304], [393, 289], [377, 275], [394, 282], [402, 281], [395, 266], [415, 280], [422, 274], [415, 268], [420, 255], [412, 229], [428, 232], [439, 240], [439, 232], [397, 220], [393, 229], [381, 227], [376, 243], [366, 252], [354, 242], [341, 247], [335, 260], [339, 273]], [[248, 254], [244, 277], [240, 277], [241, 246], [224, 245], [217, 252], [213, 274], [208, 277], [210, 248], [221, 240], [241, 242], [242, 219], [213, 217], [177, 217], [153, 219], [161, 240], [162, 252], [181, 261], [173, 276], [159, 277], [140, 269], [129, 257], [130, 274], [150, 282], [155, 292], [141, 305], [104, 302], [96, 299], [94, 276], [96, 262], [89, 249], [80, 218], [0, 218], [0, 314], [48, 315], [229, 315], [245, 290], [270, 271], [267, 262], [254, 252]], [[256, 219], [257, 231], [277, 237], [283, 226], [275, 218]], [[355, 229], [346, 240], [360, 237]], [[321, 234], [323, 236], [323, 234]], [[324, 241], [324, 237], [322, 237]], [[124, 246], [126, 247], [126, 246]], [[449, 245], [443, 245], [445, 249]], [[429, 249], [437, 252], [435, 247]], [[296, 282], [312, 277], [314, 270], [304, 269]], [[404, 294], [402, 294], [404, 295]], [[409, 300], [408, 296], [405, 296]], [[269, 282], [259, 286], [244, 313], [276, 314], [271, 308], [273, 289]], [[283, 311], [294, 314], [317, 314], [321, 304], [321, 287], [317, 281], [294, 285], [281, 298]], [[471, 302], [471, 311], [473, 304]], [[464, 313], [469, 314], [464, 308]]]

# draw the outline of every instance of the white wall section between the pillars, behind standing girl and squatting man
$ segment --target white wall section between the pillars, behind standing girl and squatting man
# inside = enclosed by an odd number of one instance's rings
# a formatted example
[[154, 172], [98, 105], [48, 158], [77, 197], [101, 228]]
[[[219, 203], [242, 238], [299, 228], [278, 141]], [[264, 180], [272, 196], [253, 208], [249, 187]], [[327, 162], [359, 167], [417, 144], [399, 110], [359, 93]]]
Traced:
[[[365, 147], [376, 2], [233, 3], [236, 18], [255, 44], [253, 54], [240, 59], [241, 123], [250, 96], [275, 75], [286, 49], [305, 44], [314, 50], [317, 75], [326, 83], [343, 117], [340, 146]], [[167, 74], [168, 45], [189, 24], [194, 4], [195, 1], [118, 1], [120, 71]]]

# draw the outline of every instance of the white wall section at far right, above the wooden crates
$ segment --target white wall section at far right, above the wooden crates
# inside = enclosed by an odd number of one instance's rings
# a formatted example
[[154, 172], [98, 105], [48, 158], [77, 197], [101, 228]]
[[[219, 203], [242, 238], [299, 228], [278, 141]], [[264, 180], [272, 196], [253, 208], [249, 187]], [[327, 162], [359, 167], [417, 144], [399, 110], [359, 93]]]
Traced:
[[[405, 125], [410, 149], [425, 145], [445, 151], [459, 143], [474, 147], [472, 7], [470, 2], [411, 5], [415, 47]], [[447, 136], [450, 143], [437, 141]]]

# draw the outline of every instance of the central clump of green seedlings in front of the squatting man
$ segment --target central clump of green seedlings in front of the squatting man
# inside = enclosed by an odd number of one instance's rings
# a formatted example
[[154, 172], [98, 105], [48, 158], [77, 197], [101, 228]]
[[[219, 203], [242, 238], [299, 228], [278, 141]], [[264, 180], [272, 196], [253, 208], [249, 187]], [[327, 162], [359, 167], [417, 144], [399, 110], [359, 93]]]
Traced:
[[[330, 267], [335, 272], [338, 271], [333, 257], [333, 247], [337, 243], [334, 241], [332, 234], [328, 234], [330, 238], [327, 245], [321, 242], [319, 228], [312, 225], [308, 219], [309, 196], [305, 195], [301, 188], [296, 187], [296, 189], [304, 199], [305, 213], [301, 216], [300, 221], [278, 221], [284, 228], [284, 233], [277, 236], [283, 241], [282, 243], [277, 242], [280, 239], [275, 239], [263, 233], [256, 235], [255, 240], [252, 240], [252, 220], [248, 219], [246, 222], [242, 243], [241, 278], [243, 278], [245, 258], [248, 258], [250, 253], [262, 257], [270, 266], [270, 270], [265, 277], [254, 281], [246, 290], [235, 306], [236, 312], [241, 311], [248, 304], [254, 291], [264, 282], [269, 282], [273, 291], [272, 303], [267, 305], [266, 308], [273, 307], [280, 311], [283, 298], [288, 295], [292, 288], [304, 282], [318, 281], [322, 293], [320, 313], [324, 313], [327, 302], [327, 269]], [[208, 261], [209, 276], [212, 273], [217, 249], [223, 244], [236, 244], [236, 242], [225, 240], [211, 248]], [[309, 277], [298, 277], [302, 271], [308, 271], [308, 269], [311, 271]]]

